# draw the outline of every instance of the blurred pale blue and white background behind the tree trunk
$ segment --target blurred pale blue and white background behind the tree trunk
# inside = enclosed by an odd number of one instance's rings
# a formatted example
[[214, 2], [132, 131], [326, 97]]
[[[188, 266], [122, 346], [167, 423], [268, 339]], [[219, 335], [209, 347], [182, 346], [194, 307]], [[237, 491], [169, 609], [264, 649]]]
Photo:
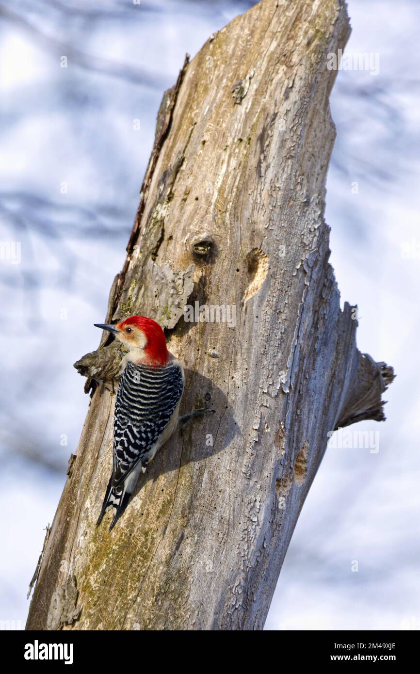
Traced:
[[[0, 260], [0, 621], [26, 621], [88, 406], [72, 363], [98, 345], [162, 91], [185, 52], [252, 4], [0, 1], [0, 241], [21, 243], [20, 264]], [[342, 301], [359, 305], [359, 348], [398, 377], [388, 421], [359, 425], [380, 431], [380, 451], [327, 451], [271, 630], [420, 627], [420, 4], [350, 0], [349, 14], [346, 53], [378, 53], [380, 71], [340, 71], [332, 92], [331, 262]]]

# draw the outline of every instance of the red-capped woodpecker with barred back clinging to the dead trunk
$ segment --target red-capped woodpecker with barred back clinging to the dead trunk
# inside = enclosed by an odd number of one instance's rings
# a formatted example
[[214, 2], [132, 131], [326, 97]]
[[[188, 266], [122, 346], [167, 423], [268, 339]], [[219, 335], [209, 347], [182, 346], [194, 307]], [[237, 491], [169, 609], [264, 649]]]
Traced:
[[136, 487], [140, 471], [169, 439], [177, 426], [192, 417], [214, 410], [193, 410], [178, 417], [184, 388], [181, 363], [169, 353], [160, 325], [144, 316], [130, 316], [115, 326], [95, 324], [109, 330], [127, 348], [115, 401], [113, 472], [97, 524], [114, 508], [110, 530], [121, 517]]

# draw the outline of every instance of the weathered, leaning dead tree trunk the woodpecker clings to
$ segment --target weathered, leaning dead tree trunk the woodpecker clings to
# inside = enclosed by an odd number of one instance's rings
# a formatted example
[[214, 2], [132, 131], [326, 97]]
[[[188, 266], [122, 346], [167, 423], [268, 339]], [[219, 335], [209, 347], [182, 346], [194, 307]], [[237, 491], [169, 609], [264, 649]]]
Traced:
[[[106, 320], [160, 321], [187, 368], [183, 410], [216, 414], [175, 434], [109, 533], [95, 523], [121, 354], [104, 337], [76, 363], [92, 399], [28, 629], [261, 629], [328, 431], [384, 419], [392, 369], [356, 348], [323, 217], [327, 55], [348, 35], [341, 0], [263, 0], [164, 95]], [[196, 302], [210, 320], [185, 319]]]

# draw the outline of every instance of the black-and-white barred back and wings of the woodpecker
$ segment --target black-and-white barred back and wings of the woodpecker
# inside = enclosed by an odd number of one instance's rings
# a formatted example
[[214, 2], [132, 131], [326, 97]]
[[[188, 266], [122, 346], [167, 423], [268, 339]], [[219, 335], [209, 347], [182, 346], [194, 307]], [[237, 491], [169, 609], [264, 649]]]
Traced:
[[115, 402], [113, 487], [119, 487], [148, 454], [173, 417], [183, 393], [177, 361], [164, 367], [127, 363]]

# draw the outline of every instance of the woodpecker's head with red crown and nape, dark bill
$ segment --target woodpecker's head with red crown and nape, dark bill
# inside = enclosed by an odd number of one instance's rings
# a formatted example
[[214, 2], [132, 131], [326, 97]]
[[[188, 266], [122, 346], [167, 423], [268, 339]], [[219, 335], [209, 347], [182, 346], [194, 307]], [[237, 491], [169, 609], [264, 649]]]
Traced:
[[108, 330], [129, 351], [134, 363], [166, 365], [169, 357], [167, 340], [160, 325], [146, 316], [130, 316], [115, 326], [95, 323]]

